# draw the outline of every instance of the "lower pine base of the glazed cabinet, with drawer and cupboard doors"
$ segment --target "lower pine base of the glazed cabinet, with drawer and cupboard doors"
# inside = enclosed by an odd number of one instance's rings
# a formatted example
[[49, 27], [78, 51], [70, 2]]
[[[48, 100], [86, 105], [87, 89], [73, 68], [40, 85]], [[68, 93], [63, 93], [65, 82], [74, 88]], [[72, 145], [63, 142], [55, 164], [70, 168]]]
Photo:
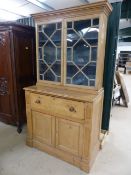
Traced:
[[[60, 97], [59, 93], [55, 92], [53, 94], [54, 88], [45, 88], [47, 90], [46, 94], [42, 94], [41, 88], [37, 87], [37, 90], [34, 90], [35, 87], [26, 88], [25, 93], [28, 127], [27, 144], [88, 172], [100, 145], [103, 91], [93, 96], [86, 94], [84, 99], [81, 96], [76, 99], [75, 96], [69, 96], [67, 90], [64, 92], [66, 95], [63, 94]], [[48, 90], [52, 94], [48, 93]], [[51, 105], [48, 106], [50, 110], [44, 107], [44, 104], [47, 106], [46, 103], [48, 103], [48, 100], [44, 99], [48, 98], [51, 102]], [[32, 101], [32, 99], [34, 100]], [[56, 112], [54, 107], [57, 101], [61, 101], [61, 104], [57, 106]], [[68, 108], [72, 105], [74, 108], [61, 115], [61, 107], [64, 109], [65, 104], [68, 104]], [[80, 105], [82, 108], [78, 111], [77, 106]], [[73, 113], [71, 117], [69, 117], [69, 112]]]

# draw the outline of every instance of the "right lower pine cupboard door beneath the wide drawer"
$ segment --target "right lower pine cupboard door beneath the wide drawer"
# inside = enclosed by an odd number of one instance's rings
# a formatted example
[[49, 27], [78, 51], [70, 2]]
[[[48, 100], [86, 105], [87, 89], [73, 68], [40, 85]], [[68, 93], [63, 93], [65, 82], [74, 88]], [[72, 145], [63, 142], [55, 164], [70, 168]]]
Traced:
[[79, 123], [56, 119], [56, 147], [77, 156], [82, 155], [83, 128]]

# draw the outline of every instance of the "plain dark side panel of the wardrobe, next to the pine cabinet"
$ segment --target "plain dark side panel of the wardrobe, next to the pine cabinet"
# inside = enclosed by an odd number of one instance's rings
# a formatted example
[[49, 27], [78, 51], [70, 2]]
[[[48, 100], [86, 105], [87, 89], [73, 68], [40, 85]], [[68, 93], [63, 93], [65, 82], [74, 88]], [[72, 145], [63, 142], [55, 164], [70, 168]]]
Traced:
[[26, 121], [23, 88], [36, 82], [34, 44], [34, 33], [31, 34], [31, 32], [28, 33], [27, 31], [13, 32], [14, 77], [16, 79], [15, 98], [18, 123]]

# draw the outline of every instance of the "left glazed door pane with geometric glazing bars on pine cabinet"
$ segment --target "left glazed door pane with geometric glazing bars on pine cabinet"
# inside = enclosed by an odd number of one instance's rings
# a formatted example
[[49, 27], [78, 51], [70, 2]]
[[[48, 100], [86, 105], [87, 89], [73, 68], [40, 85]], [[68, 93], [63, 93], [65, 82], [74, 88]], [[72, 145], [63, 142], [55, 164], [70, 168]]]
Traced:
[[38, 27], [38, 79], [61, 82], [62, 22]]

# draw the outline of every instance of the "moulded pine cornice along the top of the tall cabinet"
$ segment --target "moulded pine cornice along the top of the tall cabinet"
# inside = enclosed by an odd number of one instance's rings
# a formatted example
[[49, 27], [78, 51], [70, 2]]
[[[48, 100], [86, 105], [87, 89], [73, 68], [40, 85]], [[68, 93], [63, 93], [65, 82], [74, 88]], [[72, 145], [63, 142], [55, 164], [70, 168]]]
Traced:
[[107, 16], [111, 13], [112, 6], [108, 2], [108, 0], [102, 0], [96, 3], [90, 3], [81, 6], [75, 6], [71, 8], [65, 8], [60, 10], [54, 10], [44, 13], [32, 14], [32, 17], [37, 21], [41, 18], [49, 18], [49, 17], [73, 17], [78, 15], [92, 15], [95, 13], [105, 13]]

